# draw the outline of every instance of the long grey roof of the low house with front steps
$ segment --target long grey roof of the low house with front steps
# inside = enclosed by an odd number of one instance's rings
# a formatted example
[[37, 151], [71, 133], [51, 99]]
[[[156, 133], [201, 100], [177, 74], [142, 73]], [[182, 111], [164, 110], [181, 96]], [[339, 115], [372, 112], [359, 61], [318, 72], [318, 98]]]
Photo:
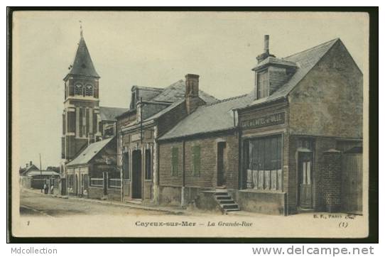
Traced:
[[242, 108], [254, 99], [253, 94], [219, 100], [199, 106], [192, 114], [180, 121], [161, 140], [191, 136], [200, 133], [223, 131], [234, 128], [233, 109]]

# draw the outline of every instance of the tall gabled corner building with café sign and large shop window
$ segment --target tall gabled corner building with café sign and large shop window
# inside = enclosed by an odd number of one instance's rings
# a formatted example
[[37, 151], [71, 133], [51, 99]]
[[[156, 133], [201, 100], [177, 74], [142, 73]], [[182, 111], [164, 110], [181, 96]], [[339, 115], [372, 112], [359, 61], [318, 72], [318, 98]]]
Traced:
[[[362, 146], [362, 72], [345, 45], [337, 38], [276, 58], [267, 35], [257, 60], [255, 100], [237, 109], [239, 206], [271, 214], [362, 211], [362, 155], [347, 161], [349, 149]], [[348, 207], [352, 201], [361, 205]]]

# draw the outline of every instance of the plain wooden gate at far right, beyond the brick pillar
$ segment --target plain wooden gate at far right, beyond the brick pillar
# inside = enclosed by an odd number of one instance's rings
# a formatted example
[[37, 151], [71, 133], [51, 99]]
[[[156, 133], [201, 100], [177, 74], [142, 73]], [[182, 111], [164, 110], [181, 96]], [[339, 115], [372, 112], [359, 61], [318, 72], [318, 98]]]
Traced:
[[362, 153], [342, 155], [342, 211], [362, 214]]

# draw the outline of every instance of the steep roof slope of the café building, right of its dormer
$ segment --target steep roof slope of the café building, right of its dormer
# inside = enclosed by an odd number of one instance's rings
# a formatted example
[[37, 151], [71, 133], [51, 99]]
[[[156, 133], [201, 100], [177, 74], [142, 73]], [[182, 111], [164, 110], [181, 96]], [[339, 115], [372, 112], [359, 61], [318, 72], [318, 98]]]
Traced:
[[271, 102], [273, 100], [279, 99], [281, 97], [286, 97], [286, 95], [291, 92], [291, 90], [301, 81], [303, 78], [310, 72], [311, 69], [321, 60], [321, 58], [332, 48], [332, 46], [340, 38], [335, 38], [333, 40], [327, 41], [320, 45], [316, 45], [313, 48], [304, 50], [300, 53], [295, 53], [294, 55], [289, 55], [286, 58], [283, 58], [284, 61], [295, 62], [297, 64], [297, 70], [294, 75], [291, 77], [286, 84], [283, 84], [276, 92], [271, 94], [269, 97], [262, 99], [256, 99], [254, 102], [251, 102], [249, 106], [255, 104], [261, 104], [264, 102]]

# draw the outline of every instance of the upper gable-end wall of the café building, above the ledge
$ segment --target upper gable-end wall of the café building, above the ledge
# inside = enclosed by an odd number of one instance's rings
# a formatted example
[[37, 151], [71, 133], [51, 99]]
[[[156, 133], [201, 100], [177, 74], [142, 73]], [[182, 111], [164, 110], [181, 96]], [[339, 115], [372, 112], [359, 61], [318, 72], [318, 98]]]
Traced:
[[362, 73], [341, 42], [289, 94], [294, 134], [362, 138]]

